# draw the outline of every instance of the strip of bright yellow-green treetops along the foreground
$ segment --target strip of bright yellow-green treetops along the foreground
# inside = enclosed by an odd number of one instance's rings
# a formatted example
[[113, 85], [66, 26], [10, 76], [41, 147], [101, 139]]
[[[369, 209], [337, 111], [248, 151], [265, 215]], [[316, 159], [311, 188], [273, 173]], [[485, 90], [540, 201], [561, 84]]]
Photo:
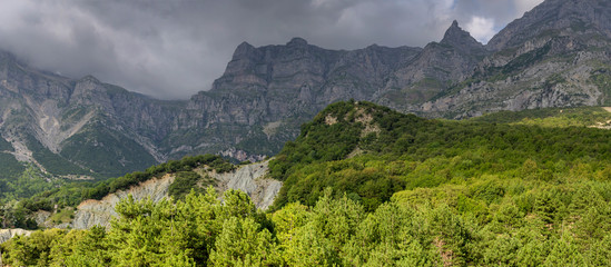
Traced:
[[0, 249], [10, 266], [607, 266], [610, 182], [489, 177], [404, 190], [371, 212], [325, 189], [267, 216], [210, 187], [176, 202], [128, 197], [108, 231], [36, 231]]

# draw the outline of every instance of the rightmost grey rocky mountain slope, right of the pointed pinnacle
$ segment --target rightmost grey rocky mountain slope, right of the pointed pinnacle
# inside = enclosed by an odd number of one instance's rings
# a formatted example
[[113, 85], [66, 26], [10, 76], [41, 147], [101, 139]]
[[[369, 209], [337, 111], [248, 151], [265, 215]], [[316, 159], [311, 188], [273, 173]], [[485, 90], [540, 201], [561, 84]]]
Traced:
[[544, 1], [490, 40], [472, 77], [414, 111], [465, 118], [610, 105], [610, 12], [604, 0]]

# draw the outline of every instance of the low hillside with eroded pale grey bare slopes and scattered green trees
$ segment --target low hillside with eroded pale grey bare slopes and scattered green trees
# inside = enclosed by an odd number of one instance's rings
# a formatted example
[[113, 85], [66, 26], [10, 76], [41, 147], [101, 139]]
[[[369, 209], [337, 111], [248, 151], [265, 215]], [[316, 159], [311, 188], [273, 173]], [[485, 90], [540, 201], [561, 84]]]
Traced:
[[[131, 196], [136, 200], [183, 199], [191, 190], [242, 190], [255, 206], [267, 209], [282, 182], [265, 177], [267, 161], [234, 166], [219, 156], [185, 157], [105, 181], [78, 181], [48, 188], [30, 198], [2, 204], [2, 228], [39, 227], [87, 229], [109, 226], [115, 205]], [[36, 184], [35, 184], [36, 185]]]

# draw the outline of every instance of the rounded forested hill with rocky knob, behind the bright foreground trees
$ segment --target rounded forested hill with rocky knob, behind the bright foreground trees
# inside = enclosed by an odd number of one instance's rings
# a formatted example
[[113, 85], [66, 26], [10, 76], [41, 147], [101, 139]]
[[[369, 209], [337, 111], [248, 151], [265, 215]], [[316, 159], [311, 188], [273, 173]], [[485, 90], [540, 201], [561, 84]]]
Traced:
[[[284, 180], [273, 209], [293, 201], [312, 206], [326, 187], [372, 211], [403, 189], [485, 176], [609, 179], [611, 132], [585, 127], [609, 120], [601, 108], [576, 108], [437, 121], [368, 102], [338, 102], [304, 125], [270, 161], [270, 176]], [[493, 185], [474, 190], [487, 204], [505, 194]]]

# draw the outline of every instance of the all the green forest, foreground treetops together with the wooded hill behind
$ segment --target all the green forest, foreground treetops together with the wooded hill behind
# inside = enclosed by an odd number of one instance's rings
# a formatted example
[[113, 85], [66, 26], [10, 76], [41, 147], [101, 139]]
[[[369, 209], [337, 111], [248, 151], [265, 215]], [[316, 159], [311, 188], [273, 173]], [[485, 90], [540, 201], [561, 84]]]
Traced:
[[[426, 120], [338, 102], [270, 161], [275, 206], [126, 199], [110, 229], [2, 244], [11, 266], [610, 266], [600, 108]], [[132, 177], [132, 176], [131, 176]]]

